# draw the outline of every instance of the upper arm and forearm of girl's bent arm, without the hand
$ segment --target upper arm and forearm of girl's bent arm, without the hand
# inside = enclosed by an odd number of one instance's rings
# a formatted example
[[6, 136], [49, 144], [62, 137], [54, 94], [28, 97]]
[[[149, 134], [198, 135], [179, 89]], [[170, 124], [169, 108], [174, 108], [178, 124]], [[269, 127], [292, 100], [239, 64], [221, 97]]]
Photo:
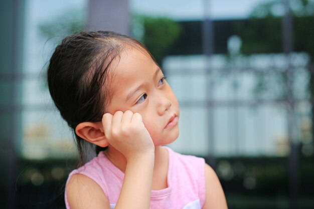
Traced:
[[[116, 209], [149, 208], [153, 157], [138, 157], [127, 163]], [[108, 198], [100, 186], [85, 175], [73, 175], [66, 193], [71, 209], [110, 209]]]

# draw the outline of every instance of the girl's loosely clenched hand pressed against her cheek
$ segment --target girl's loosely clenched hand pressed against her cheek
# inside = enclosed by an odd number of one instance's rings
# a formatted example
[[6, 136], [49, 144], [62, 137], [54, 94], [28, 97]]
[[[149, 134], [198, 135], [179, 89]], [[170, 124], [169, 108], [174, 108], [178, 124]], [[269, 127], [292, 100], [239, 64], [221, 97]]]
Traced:
[[154, 144], [139, 113], [130, 110], [106, 113], [102, 125], [107, 141], [128, 160], [154, 152]]

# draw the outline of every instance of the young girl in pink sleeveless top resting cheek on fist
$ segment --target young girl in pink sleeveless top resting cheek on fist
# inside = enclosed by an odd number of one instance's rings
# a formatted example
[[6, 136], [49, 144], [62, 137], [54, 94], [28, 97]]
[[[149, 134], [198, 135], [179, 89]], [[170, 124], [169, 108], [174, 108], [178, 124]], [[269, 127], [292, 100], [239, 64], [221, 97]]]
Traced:
[[70, 173], [68, 209], [227, 208], [204, 159], [163, 146], [179, 135], [179, 104], [141, 43], [113, 32], [69, 36], [51, 57], [48, 85], [81, 160], [85, 142], [98, 154]]

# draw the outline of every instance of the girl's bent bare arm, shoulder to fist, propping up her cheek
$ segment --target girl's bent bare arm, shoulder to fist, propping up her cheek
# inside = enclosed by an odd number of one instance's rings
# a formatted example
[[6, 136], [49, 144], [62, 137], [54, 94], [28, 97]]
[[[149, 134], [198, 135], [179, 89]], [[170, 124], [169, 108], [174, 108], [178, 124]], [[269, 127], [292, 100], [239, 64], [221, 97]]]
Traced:
[[[102, 124], [105, 140], [127, 160], [115, 209], [148, 209], [154, 166], [154, 144], [141, 115], [133, 114], [131, 111], [125, 113], [117, 111], [114, 115], [106, 113]], [[103, 140], [103, 134], [97, 134], [92, 142], [98, 143]], [[71, 209], [110, 208], [108, 198], [100, 186], [84, 175], [73, 176], [66, 192]]]

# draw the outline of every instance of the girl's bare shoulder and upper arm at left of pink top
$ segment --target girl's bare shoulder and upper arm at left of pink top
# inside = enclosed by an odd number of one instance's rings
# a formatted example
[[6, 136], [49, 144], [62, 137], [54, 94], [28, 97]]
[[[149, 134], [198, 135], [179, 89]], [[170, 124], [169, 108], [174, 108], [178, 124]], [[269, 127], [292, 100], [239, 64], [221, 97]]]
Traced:
[[66, 186], [66, 196], [71, 209], [110, 208], [108, 199], [100, 186], [83, 174], [71, 176]]

